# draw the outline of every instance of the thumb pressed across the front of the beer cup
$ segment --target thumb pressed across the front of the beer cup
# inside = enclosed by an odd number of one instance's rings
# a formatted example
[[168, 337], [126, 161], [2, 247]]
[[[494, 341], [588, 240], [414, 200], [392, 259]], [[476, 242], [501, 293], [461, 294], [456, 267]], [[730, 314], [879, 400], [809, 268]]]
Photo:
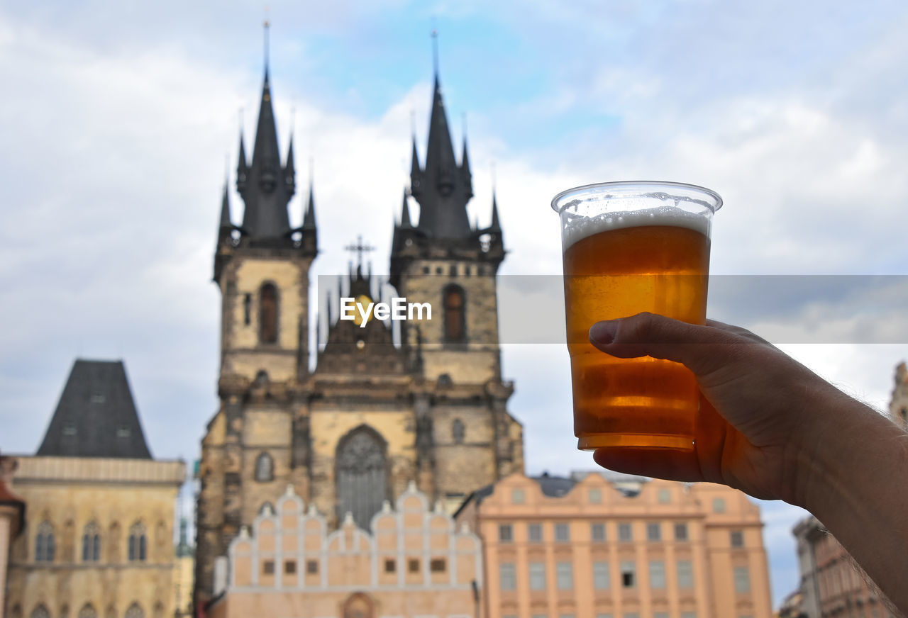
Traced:
[[713, 326], [638, 313], [597, 322], [589, 329], [589, 342], [613, 357], [674, 360], [697, 376], [705, 376], [734, 360], [735, 344], [740, 340]]

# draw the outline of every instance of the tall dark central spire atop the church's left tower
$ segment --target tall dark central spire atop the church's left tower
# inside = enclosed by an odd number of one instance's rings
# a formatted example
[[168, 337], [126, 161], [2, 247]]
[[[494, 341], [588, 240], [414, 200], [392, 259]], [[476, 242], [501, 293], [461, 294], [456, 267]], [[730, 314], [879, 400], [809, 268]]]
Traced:
[[[265, 66], [262, 81], [262, 98], [259, 104], [259, 121], [252, 145], [252, 164], [246, 179], [238, 182], [242, 201], [246, 204], [242, 228], [252, 238], [282, 238], [291, 231], [287, 204], [293, 192], [286, 182], [286, 171], [281, 179], [281, 152], [278, 149], [277, 127], [271, 103], [271, 79], [268, 61], [269, 25], [265, 22]], [[241, 167], [245, 155], [241, 143]]]

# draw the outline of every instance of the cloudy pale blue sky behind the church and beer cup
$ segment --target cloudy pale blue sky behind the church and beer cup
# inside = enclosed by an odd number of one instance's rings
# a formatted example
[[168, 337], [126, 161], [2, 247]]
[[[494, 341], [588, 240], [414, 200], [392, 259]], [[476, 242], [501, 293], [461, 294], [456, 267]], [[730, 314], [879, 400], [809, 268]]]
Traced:
[[[34, 452], [74, 358], [123, 358], [153, 454], [199, 456], [217, 407], [220, 197], [241, 126], [254, 132], [265, 16], [261, 3], [0, 6], [0, 450]], [[508, 286], [558, 280], [555, 193], [692, 182], [725, 199], [711, 316], [888, 407], [908, 358], [903, 3], [280, 1], [267, 18], [281, 149], [292, 133], [298, 183], [314, 181], [313, 280], [345, 268], [358, 234], [387, 272], [437, 28], [470, 219], [488, 224], [493, 183], [498, 196], [503, 331], [521, 319]], [[530, 474], [594, 466], [568, 430], [551, 332], [503, 346]], [[797, 586], [804, 511], [761, 507], [777, 604]]]

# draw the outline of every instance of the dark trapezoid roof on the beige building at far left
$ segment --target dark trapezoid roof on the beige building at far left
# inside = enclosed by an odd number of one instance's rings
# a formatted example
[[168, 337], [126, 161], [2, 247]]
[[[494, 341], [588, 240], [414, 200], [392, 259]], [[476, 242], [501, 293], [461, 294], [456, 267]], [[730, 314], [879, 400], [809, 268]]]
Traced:
[[37, 455], [152, 458], [122, 360], [76, 359]]

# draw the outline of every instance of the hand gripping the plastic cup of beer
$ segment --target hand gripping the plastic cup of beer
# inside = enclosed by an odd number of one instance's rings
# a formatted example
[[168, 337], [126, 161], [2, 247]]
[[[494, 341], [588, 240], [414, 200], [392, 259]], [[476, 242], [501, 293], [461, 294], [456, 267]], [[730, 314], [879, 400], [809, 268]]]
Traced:
[[830, 410], [857, 403], [765, 339], [714, 320], [698, 326], [640, 313], [594, 324], [589, 340], [617, 358], [682, 363], [700, 386], [694, 450], [597, 449], [597, 464], [618, 472], [723, 483], [803, 505], [803, 472]]

